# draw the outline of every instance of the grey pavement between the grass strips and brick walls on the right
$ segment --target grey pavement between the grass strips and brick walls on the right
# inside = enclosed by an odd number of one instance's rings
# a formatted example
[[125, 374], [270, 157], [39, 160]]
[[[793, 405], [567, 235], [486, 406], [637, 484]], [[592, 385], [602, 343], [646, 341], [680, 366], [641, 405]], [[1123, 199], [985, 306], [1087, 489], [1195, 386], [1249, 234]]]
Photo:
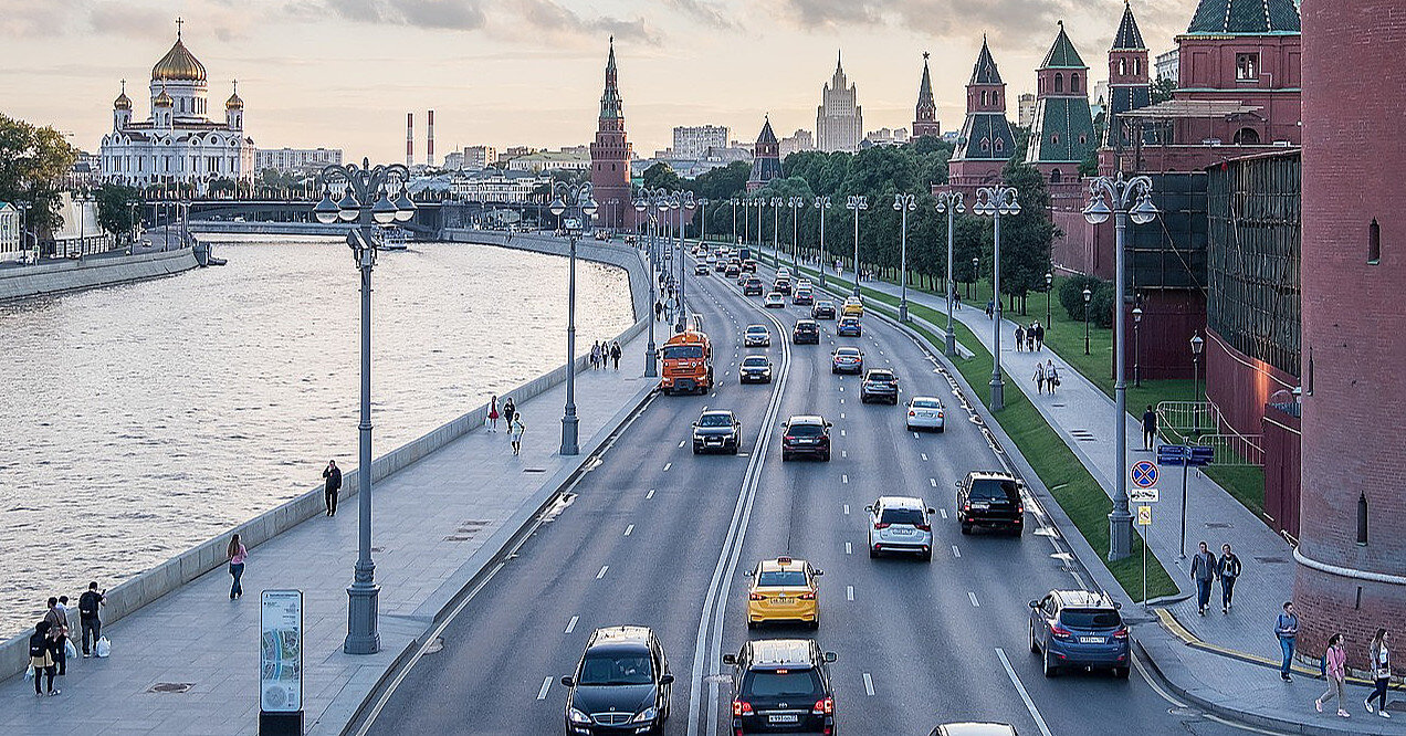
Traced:
[[[803, 264], [801, 270], [814, 274], [815, 264]], [[844, 280], [844, 288], [849, 288], [848, 278]], [[863, 281], [860, 285], [891, 296], [900, 294], [900, 288], [887, 281]], [[910, 288], [908, 301], [946, 315], [946, 302], [938, 295]], [[967, 305], [957, 309], [955, 317], [991, 351], [993, 320], [983, 309]], [[1028, 322], [1032, 320], [1033, 317]], [[1019, 386], [1112, 497], [1114, 473], [1126, 472], [1118, 468], [1114, 452], [1114, 400], [1053, 351], [1015, 351], [1015, 322], [1002, 320], [1001, 365], [1007, 386]], [[1036, 361], [1047, 360], [1054, 361], [1060, 375], [1059, 393], [1054, 396], [1036, 393], [1032, 379]], [[984, 402], [983, 388], [979, 386], [977, 392]], [[1140, 423], [1132, 416], [1125, 416], [1125, 421], [1129, 465], [1139, 459], [1156, 462], [1154, 452], [1142, 449]], [[1160, 622], [1139, 625], [1136, 638], [1146, 659], [1154, 663], [1167, 684], [1180, 697], [1226, 718], [1277, 729], [1288, 728], [1302, 733], [1406, 735], [1406, 702], [1388, 707], [1388, 711], [1400, 712], [1391, 721], [1369, 715], [1361, 702], [1367, 697], [1367, 688], [1350, 683], [1347, 695], [1353, 718], [1341, 719], [1331, 711], [1320, 715], [1313, 709], [1313, 698], [1326, 687], [1316, 678], [1316, 667], [1299, 669], [1292, 684], [1279, 680], [1277, 670], [1281, 655], [1274, 622], [1294, 590], [1294, 551], [1288, 541], [1264, 525], [1225, 489], [1192, 469], [1187, 479], [1187, 558], [1182, 559], [1180, 468], [1167, 468], [1157, 486], [1160, 501], [1153, 508], [1154, 524], [1139, 531], [1144, 532], [1149, 551], [1174, 577], [1185, 597], [1157, 607], [1157, 611], [1164, 611], [1159, 617]], [[1244, 566], [1229, 615], [1220, 612], [1219, 583], [1212, 590], [1212, 605], [1206, 615], [1201, 617], [1197, 611], [1191, 555], [1202, 539], [1216, 555], [1220, 544], [1229, 542]], [[1136, 590], [1126, 593], [1133, 600], [1139, 594]], [[1348, 646], [1365, 648], [1365, 642], [1351, 642]], [[1400, 698], [1399, 691], [1392, 694]]]

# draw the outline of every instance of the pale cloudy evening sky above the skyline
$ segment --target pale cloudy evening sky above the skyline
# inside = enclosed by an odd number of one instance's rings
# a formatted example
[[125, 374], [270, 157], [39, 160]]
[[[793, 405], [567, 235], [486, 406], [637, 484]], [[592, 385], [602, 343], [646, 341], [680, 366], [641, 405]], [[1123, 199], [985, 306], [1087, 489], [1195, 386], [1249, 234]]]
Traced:
[[[1152, 56], [1175, 46], [1197, 0], [1133, 0]], [[72, 133], [97, 150], [127, 79], [149, 114], [150, 69], [184, 18], [205, 65], [211, 110], [232, 80], [259, 147], [342, 147], [399, 162], [405, 112], [425, 111], [436, 153], [470, 145], [560, 147], [596, 129], [614, 35], [626, 125], [637, 156], [671, 145], [675, 125], [727, 125], [755, 140], [814, 131], [821, 87], [844, 53], [866, 131], [911, 125], [931, 52], [938, 117], [956, 129], [986, 34], [1010, 100], [1063, 20], [1107, 77], [1123, 0], [0, 0], [0, 112]], [[135, 94], [132, 94], [135, 93]], [[1015, 110], [1010, 110], [1015, 117]]]

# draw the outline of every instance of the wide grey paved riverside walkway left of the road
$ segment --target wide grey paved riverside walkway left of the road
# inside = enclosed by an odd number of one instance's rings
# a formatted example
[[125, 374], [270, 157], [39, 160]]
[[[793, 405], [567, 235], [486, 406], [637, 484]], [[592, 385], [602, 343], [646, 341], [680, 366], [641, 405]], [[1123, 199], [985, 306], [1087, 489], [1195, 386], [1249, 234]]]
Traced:
[[519, 406], [522, 456], [512, 455], [506, 433], [479, 428], [375, 485], [378, 655], [342, 653], [357, 556], [353, 494], [336, 517], [315, 517], [250, 549], [240, 600], [229, 600], [219, 567], [104, 626], [112, 656], [70, 660], [56, 678], [62, 695], [35, 698], [20, 676], [0, 683], [0, 733], [256, 733], [264, 589], [302, 590], [307, 733], [340, 733], [440, 610], [645, 400], [655, 385], [640, 375], [645, 341], [641, 334], [624, 346], [619, 372], [576, 374], [581, 455], [557, 454], [565, 400], [558, 385]]

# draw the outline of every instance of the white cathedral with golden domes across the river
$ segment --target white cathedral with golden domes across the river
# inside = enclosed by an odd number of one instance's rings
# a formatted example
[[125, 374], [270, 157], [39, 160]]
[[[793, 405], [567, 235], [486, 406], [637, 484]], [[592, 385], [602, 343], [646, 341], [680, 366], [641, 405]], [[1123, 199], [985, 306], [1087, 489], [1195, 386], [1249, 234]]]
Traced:
[[245, 101], [238, 88], [225, 101], [225, 119], [209, 119], [205, 65], [181, 41], [152, 67], [150, 117], [132, 119], [132, 100], [112, 101], [112, 132], [103, 136], [105, 181], [138, 187], [195, 184], [205, 191], [214, 180], [252, 180], [254, 142], [245, 135]]

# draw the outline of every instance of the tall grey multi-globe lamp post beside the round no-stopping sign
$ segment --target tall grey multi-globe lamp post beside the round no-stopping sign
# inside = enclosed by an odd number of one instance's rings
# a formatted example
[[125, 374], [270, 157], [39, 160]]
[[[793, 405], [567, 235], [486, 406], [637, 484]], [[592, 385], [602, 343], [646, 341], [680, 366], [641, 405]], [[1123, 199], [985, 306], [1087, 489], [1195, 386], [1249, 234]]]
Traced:
[[[1116, 242], [1114, 244], [1114, 371], [1116, 375], [1114, 381], [1114, 403], [1116, 405], [1114, 412], [1114, 456], [1116, 466], [1114, 476], [1116, 476], [1118, 483], [1114, 493], [1114, 510], [1108, 514], [1108, 559], [1116, 560], [1132, 553], [1133, 537], [1133, 517], [1128, 513], [1128, 382], [1125, 374], [1128, 350], [1125, 348], [1126, 331], [1123, 327], [1128, 268], [1123, 243], [1128, 221], [1132, 219], [1133, 225], [1146, 225], [1157, 218], [1157, 208], [1152, 204], [1152, 178], [1146, 176], [1123, 180], [1123, 174], [1119, 171], [1116, 178], [1098, 177], [1090, 181], [1088, 192], [1090, 202], [1084, 208], [1084, 219], [1090, 225], [1108, 222], [1111, 213], [1116, 216]], [[1108, 206], [1109, 201], [1114, 204], [1112, 208]]]

